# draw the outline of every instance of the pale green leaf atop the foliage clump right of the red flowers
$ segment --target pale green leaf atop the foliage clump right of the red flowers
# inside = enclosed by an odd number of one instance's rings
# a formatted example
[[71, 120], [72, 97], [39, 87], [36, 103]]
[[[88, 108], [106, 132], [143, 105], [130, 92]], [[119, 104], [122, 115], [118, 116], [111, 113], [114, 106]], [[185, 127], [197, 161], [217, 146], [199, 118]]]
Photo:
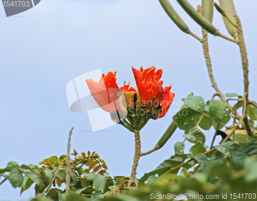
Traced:
[[203, 112], [205, 110], [205, 102], [204, 99], [200, 96], [188, 96], [186, 98], [182, 98], [185, 107], [189, 107], [196, 112]]

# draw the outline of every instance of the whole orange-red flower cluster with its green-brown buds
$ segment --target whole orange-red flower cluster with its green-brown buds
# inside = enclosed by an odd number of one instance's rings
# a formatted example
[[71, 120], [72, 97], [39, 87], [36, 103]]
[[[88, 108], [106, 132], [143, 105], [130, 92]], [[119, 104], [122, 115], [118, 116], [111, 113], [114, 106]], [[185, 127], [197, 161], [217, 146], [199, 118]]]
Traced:
[[[114, 122], [140, 130], [150, 118], [163, 117], [174, 99], [174, 93], [170, 92], [171, 85], [162, 87], [162, 69], [155, 70], [155, 67], [145, 70], [141, 67], [139, 71], [132, 67], [137, 90], [130, 87], [130, 83], [119, 88], [116, 72], [102, 74], [99, 82], [86, 79], [86, 83], [97, 104], [111, 113]], [[117, 112], [119, 117], [114, 117]], [[129, 123], [121, 117], [127, 118]]]

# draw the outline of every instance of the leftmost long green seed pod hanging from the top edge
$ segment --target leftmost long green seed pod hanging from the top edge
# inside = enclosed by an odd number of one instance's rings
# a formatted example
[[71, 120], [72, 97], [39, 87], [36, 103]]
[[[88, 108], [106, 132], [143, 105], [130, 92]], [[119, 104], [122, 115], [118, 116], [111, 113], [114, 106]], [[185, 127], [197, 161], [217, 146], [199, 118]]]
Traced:
[[164, 11], [169, 15], [172, 21], [177, 25], [181, 31], [186, 32], [188, 30], [187, 24], [183, 21], [183, 19], [177, 14], [172, 5], [168, 0], [159, 0]]

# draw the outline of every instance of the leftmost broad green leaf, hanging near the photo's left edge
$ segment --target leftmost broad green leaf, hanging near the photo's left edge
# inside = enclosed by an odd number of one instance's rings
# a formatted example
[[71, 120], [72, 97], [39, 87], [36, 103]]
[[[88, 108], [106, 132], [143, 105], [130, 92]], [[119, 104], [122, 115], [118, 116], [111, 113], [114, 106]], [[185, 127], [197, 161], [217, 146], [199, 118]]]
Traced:
[[14, 187], [21, 187], [23, 183], [23, 174], [18, 168], [12, 168], [10, 174], [1, 174], [9, 180], [10, 184]]

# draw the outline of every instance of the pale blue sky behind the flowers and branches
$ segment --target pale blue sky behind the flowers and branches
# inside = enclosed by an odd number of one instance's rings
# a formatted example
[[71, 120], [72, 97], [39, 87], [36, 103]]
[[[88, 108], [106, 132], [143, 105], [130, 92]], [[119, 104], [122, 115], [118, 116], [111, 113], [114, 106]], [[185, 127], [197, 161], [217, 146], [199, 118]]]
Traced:
[[[201, 29], [179, 5], [174, 7], [200, 36]], [[190, 1], [194, 7], [200, 1]], [[236, 0], [249, 56], [249, 98], [257, 100], [256, 6], [255, 1]], [[0, 6], [0, 15], [5, 15]], [[134, 155], [133, 133], [120, 125], [90, 131], [86, 113], [68, 108], [65, 86], [83, 73], [101, 69], [117, 71], [117, 83], [131, 81], [131, 66], [163, 69], [164, 86], [175, 93], [172, 110], [191, 91], [205, 101], [215, 92], [211, 87], [201, 44], [182, 33], [162, 10], [157, 0], [71, 1], [42, 0], [36, 7], [1, 17], [0, 49], [0, 168], [10, 160], [38, 164], [44, 158], [66, 153], [71, 127], [71, 150], [97, 151], [110, 175], [130, 175]], [[229, 35], [215, 11], [213, 24]], [[223, 38], [209, 36], [213, 73], [224, 93], [243, 94], [243, 75], [238, 47]], [[176, 106], [177, 105], [177, 106]], [[152, 149], [169, 126], [171, 115], [150, 122], [141, 131], [142, 152]], [[109, 132], [108, 132], [109, 131]], [[204, 133], [210, 144], [212, 132]], [[173, 145], [183, 140], [177, 130], [164, 147], [139, 160], [138, 177], [156, 168], [174, 154]], [[218, 142], [218, 140], [217, 140]], [[186, 150], [189, 150], [186, 143]], [[1, 177], [1, 180], [3, 177]], [[20, 188], [9, 182], [0, 186], [0, 200], [26, 200], [34, 189], [20, 197]]]

